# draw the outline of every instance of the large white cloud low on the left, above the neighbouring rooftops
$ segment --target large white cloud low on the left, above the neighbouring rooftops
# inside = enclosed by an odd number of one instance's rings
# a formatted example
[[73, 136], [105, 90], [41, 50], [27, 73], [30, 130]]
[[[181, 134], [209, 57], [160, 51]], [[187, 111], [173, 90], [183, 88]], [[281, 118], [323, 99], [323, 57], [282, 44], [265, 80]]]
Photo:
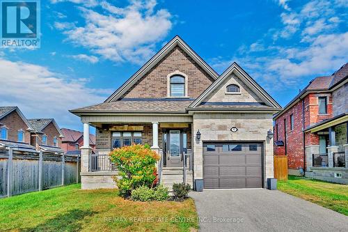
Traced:
[[27, 117], [55, 118], [61, 126], [80, 123], [69, 109], [100, 103], [106, 97], [105, 90], [87, 88], [85, 79], [70, 81], [40, 65], [0, 58], [0, 70], [0, 105], [17, 105]]

